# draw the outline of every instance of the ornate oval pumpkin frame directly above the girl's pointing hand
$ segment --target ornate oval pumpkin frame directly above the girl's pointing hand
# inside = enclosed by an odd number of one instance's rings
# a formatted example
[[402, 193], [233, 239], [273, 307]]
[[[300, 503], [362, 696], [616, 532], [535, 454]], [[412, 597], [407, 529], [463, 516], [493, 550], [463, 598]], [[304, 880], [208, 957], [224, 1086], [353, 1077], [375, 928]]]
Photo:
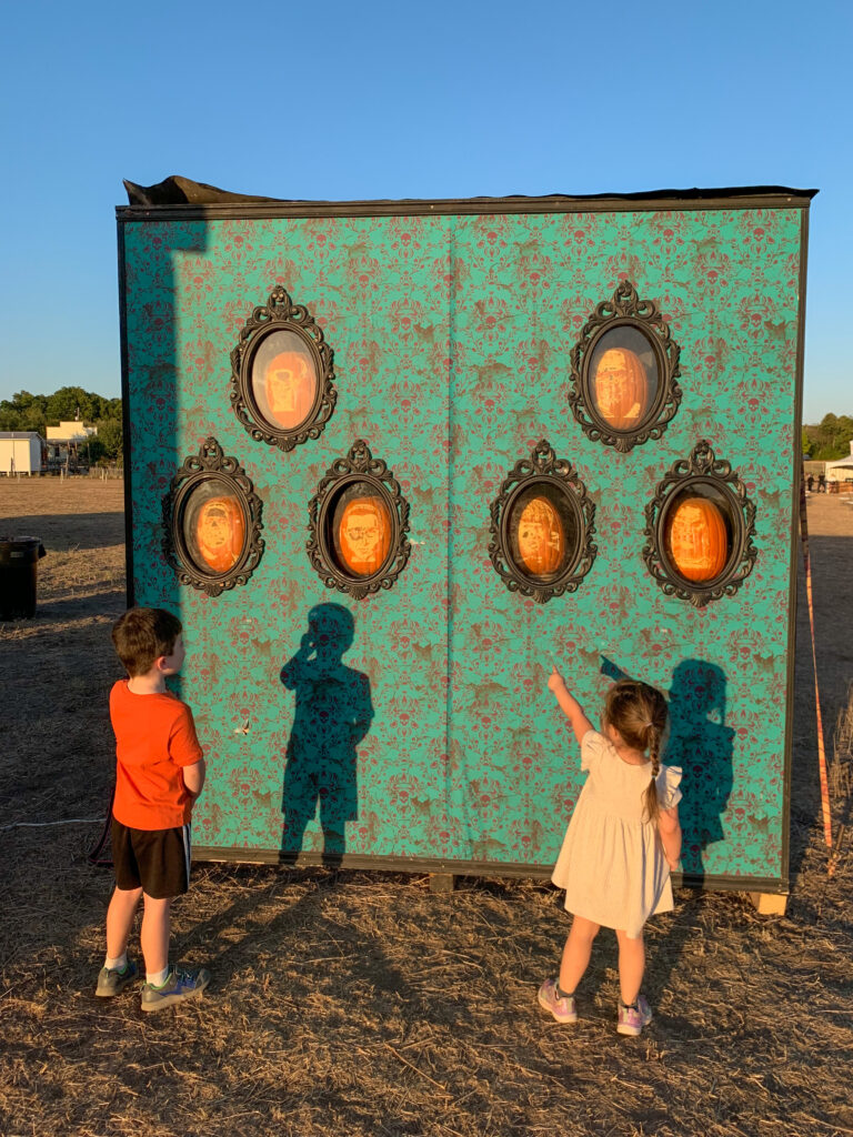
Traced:
[[490, 515], [489, 557], [511, 592], [545, 604], [574, 592], [593, 567], [595, 503], [547, 439], [515, 463]]

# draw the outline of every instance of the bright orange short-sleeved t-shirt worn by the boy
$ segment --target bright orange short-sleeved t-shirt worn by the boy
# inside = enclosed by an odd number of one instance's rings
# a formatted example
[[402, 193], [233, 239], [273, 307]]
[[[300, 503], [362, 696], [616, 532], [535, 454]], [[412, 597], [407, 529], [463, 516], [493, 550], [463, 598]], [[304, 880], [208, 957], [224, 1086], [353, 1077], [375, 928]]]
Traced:
[[190, 820], [192, 799], [182, 766], [204, 757], [192, 712], [176, 695], [134, 695], [119, 679], [109, 692], [116, 733], [113, 816], [131, 829], [175, 829]]

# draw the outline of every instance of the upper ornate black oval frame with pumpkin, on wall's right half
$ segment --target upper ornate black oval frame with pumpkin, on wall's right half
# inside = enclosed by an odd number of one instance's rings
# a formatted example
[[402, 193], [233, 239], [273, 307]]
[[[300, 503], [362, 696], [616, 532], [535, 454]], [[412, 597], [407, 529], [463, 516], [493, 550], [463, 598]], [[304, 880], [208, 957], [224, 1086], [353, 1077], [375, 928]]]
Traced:
[[657, 305], [622, 281], [572, 348], [569, 405], [583, 433], [622, 454], [661, 438], [681, 401], [679, 356]]

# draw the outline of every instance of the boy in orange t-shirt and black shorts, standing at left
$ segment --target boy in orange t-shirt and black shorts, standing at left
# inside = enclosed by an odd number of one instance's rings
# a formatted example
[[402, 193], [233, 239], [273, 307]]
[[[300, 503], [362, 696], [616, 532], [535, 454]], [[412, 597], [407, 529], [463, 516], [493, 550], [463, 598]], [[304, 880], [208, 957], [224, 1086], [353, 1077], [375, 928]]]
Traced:
[[136, 978], [127, 938], [142, 898], [142, 1010], [159, 1011], [200, 995], [210, 981], [204, 968], [168, 965], [169, 906], [190, 882], [190, 814], [205, 783], [205, 760], [192, 712], [166, 690], [166, 677], [176, 675], [184, 661], [181, 621], [163, 608], [130, 608], [113, 628], [113, 644], [129, 678], [109, 694], [116, 889], [96, 995], [118, 995]]

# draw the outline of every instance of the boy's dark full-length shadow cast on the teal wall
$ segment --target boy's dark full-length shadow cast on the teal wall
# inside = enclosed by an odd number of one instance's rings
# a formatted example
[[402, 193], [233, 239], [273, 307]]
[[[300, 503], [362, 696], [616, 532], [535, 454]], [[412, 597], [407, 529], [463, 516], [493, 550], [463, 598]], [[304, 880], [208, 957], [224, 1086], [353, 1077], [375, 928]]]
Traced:
[[[318, 604], [298, 652], [281, 669], [282, 683], [296, 694], [281, 799], [282, 860], [310, 852], [322, 853], [324, 864], [340, 864], [346, 822], [358, 815], [356, 747], [370, 730], [373, 704], [367, 677], [341, 659], [354, 634], [348, 608]], [[317, 804], [322, 848], [304, 849]]]

